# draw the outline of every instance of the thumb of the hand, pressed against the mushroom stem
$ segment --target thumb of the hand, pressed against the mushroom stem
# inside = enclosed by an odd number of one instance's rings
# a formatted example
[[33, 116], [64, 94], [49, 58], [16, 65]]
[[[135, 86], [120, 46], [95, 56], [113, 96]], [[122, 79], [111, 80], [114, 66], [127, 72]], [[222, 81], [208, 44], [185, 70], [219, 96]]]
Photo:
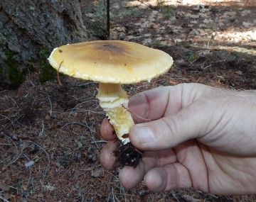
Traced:
[[129, 138], [134, 147], [140, 150], [166, 150], [191, 140], [201, 138], [212, 130], [218, 121], [212, 122], [210, 112], [204, 107], [183, 108], [171, 116], [134, 125]]

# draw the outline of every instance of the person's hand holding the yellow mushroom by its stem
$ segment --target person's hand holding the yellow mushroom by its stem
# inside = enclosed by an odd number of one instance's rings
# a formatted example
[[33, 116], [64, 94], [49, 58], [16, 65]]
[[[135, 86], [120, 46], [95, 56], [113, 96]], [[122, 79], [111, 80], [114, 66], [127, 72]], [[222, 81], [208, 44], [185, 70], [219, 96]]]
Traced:
[[[132, 189], [141, 181], [154, 192], [193, 187], [215, 194], [256, 193], [256, 93], [201, 84], [167, 86], [132, 96], [134, 125], [129, 138], [144, 150], [136, 168], [124, 167], [119, 179]], [[100, 162], [113, 169], [116, 147], [105, 119], [100, 132], [108, 141]]]

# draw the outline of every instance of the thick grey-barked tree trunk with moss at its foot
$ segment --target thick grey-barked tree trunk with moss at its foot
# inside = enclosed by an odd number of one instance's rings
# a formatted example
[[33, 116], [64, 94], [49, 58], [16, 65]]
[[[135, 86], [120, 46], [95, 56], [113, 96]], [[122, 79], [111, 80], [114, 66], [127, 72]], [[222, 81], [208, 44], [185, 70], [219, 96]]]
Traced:
[[83, 20], [79, 0], [1, 0], [0, 90], [47, 67], [53, 47], [92, 39]]

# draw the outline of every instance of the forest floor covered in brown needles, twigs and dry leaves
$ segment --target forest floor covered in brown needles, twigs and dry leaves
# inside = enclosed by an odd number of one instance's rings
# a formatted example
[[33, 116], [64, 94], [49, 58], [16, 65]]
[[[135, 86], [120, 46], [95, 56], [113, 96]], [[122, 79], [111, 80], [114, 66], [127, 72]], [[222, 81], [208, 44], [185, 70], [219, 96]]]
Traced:
[[[163, 76], [124, 89], [129, 96], [184, 82], [256, 89], [255, 11], [254, 0], [112, 2], [112, 40], [174, 58]], [[60, 77], [63, 86], [40, 84], [38, 74], [0, 91], [0, 201], [256, 201], [193, 189], [151, 193], [143, 183], [124, 190], [119, 170], [99, 162], [105, 113], [95, 99], [97, 84], [67, 76]]]

